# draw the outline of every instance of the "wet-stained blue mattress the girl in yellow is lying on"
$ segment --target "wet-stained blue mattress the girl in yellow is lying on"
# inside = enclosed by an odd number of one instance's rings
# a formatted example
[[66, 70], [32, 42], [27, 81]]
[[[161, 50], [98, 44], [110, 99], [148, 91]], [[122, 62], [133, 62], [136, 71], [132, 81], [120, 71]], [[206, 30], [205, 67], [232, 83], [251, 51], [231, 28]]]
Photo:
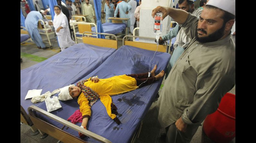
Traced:
[[[105, 60], [98, 68], [82, 79], [87, 79], [95, 75], [98, 75], [99, 78], [109, 78], [115, 75], [148, 72], [149, 61], [153, 58], [154, 52], [155, 51], [143, 50], [131, 46], [122, 46], [112, 55], [110, 55], [109, 58]], [[156, 52], [156, 55], [151, 62], [151, 70], [153, 66], [157, 64], [156, 73], [158, 74], [162, 69], [166, 69], [169, 59], [170, 54]], [[91, 107], [91, 118], [88, 122], [87, 129], [106, 139], [109, 139], [113, 143], [130, 142], [139, 126], [139, 123], [143, 120], [149, 107], [151, 106], [160, 88], [162, 80], [163, 78], [152, 83], [151, 85], [141, 87], [136, 91], [131, 91], [133, 94], [136, 93], [137, 97], [135, 98], [129, 92], [122, 95], [111, 96], [113, 103], [118, 108], [118, 118], [122, 123], [120, 125], [115, 123], [108, 116], [106, 108], [98, 99], [97, 102]], [[54, 96], [58, 95], [55, 94]], [[62, 108], [52, 111], [51, 113], [65, 120], [67, 120], [69, 116], [74, 113], [74, 111], [79, 109], [77, 99], [60, 101], [60, 103]], [[46, 110], [46, 106], [43, 104], [39, 107]], [[40, 114], [37, 114], [37, 116], [58, 128], [62, 128], [63, 126], [56, 121], [46, 119], [48, 117]], [[77, 125], [81, 126], [81, 123], [77, 123]], [[78, 131], [74, 131], [71, 128], [64, 128], [63, 130], [79, 138]], [[83, 140], [88, 142], [98, 142], [88, 137], [84, 138]]]

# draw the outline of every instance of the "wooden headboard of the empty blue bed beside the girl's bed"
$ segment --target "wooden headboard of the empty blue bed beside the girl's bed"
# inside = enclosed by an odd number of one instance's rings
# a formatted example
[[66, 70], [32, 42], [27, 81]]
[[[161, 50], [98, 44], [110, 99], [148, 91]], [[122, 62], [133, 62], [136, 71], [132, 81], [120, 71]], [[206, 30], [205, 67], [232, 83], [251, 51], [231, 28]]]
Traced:
[[[86, 34], [87, 33], [87, 34]], [[109, 40], [109, 39], [101, 39], [101, 38], [93, 38], [93, 37], [82, 37], [83, 43], [91, 44], [100, 47], [108, 47], [117, 49], [117, 36], [114, 34], [107, 34], [107, 33], [97, 33], [97, 32], [83, 32], [83, 35], [91, 35], [91, 34], [102, 34], [102, 35], [109, 35], [114, 36], [116, 40]]]

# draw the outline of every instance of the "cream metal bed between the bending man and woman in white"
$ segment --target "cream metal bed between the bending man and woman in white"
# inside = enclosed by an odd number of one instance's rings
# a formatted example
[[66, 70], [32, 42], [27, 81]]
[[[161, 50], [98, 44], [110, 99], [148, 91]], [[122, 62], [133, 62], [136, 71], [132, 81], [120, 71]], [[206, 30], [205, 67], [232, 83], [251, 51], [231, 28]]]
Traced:
[[[42, 23], [43, 23], [43, 25], [42, 25]], [[43, 41], [43, 42], [49, 43], [50, 48], [52, 49], [52, 44], [51, 44], [51, 41], [50, 41], [50, 38], [49, 38], [50, 35], [55, 34], [54, 31], [52, 30], [52, 28], [46, 28], [44, 21], [43, 20], [38, 20], [37, 29], [39, 31], [39, 34], [43, 34], [43, 35], [47, 36], [48, 42], [47, 41]]]

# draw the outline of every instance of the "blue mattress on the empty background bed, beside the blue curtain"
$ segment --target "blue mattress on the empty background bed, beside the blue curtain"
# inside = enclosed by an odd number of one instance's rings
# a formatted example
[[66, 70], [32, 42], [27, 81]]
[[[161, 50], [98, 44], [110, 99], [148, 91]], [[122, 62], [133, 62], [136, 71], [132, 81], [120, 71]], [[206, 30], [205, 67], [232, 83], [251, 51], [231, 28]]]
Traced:
[[[126, 24], [125, 23], [103, 23], [102, 27], [104, 31], [102, 33], [118, 34], [126, 28]], [[91, 31], [96, 32], [95, 27], [92, 27]], [[79, 32], [76, 32], [76, 33], [79, 33]], [[82, 35], [76, 34], [76, 36], [81, 37]]]

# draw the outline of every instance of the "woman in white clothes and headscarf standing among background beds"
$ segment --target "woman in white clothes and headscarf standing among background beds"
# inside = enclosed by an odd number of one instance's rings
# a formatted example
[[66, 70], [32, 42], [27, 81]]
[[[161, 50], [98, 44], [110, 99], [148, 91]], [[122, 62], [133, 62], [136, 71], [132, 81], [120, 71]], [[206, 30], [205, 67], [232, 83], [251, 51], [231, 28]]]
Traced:
[[[58, 37], [58, 42], [61, 51], [75, 44], [71, 39], [70, 30], [68, 27], [68, 19], [65, 14], [62, 13], [61, 7], [59, 5], [54, 6], [54, 19], [53, 27], [55, 29], [56, 35]], [[52, 25], [49, 23], [49, 25]]]

